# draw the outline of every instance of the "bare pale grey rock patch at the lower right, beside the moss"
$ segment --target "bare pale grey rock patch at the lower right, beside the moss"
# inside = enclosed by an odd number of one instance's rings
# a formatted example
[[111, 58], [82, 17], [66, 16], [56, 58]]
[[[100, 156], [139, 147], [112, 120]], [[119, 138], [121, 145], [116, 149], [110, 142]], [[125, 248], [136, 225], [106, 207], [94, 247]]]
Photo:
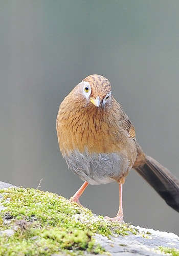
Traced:
[[[139, 228], [140, 229], [140, 228]], [[130, 236], [118, 238], [111, 238], [111, 240], [97, 235], [97, 241], [106, 249], [106, 251], [110, 251], [112, 255], [122, 256], [122, 255], [156, 255], [161, 253], [154, 248], [159, 246], [164, 247], [174, 247], [179, 249], [179, 238], [173, 233], [160, 232], [152, 229], [142, 229], [144, 234], [147, 232], [151, 232], [151, 234], [147, 234], [148, 238], [144, 238], [138, 234], [131, 234]], [[163, 253], [161, 253], [163, 254]]]

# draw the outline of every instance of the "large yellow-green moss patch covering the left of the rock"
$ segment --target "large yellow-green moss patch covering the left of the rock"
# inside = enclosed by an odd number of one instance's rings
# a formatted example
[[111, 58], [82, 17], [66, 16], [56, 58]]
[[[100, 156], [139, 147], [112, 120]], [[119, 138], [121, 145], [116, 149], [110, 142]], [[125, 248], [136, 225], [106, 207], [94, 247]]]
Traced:
[[[6, 208], [0, 214], [0, 230], [15, 228], [11, 237], [1, 236], [0, 255], [103, 253], [95, 233], [109, 237], [136, 233], [129, 224], [111, 223], [102, 216], [53, 193], [30, 188], [0, 190]], [[4, 222], [4, 218], [10, 221]]]

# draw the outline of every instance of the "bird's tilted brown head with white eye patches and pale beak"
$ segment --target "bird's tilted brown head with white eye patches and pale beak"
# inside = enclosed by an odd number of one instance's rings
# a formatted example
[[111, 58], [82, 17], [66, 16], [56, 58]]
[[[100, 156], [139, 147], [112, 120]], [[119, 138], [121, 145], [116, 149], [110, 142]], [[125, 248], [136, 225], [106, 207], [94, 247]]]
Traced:
[[87, 104], [103, 107], [111, 102], [111, 86], [107, 78], [101, 75], [87, 76], [78, 84], [80, 94]]

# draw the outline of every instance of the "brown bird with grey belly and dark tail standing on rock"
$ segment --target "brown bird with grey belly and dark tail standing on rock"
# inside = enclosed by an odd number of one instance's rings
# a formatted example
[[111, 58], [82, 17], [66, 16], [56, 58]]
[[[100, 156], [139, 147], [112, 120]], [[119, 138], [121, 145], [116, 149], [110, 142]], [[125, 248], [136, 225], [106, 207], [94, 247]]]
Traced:
[[[107, 78], [90, 75], [62, 101], [57, 115], [60, 151], [68, 166], [85, 182], [71, 201], [88, 184], [119, 184], [119, 211], [111, 221], [123, 220], [122, 185], [131, 168], [179, 212], [179, 181], [136, 141], [135, 127], [111, 95]], [[79, 203], [80, 204], [80, 203]]]

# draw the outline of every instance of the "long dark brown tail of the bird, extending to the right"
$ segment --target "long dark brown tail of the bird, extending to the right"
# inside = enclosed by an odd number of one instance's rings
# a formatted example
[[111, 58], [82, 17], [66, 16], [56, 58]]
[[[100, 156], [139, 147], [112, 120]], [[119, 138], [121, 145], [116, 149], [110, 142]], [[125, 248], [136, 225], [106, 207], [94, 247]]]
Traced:
[[170, 207], [179, 212], [179, 180], [167, 168], [146, 156], [144, 165], [135, 169]]

